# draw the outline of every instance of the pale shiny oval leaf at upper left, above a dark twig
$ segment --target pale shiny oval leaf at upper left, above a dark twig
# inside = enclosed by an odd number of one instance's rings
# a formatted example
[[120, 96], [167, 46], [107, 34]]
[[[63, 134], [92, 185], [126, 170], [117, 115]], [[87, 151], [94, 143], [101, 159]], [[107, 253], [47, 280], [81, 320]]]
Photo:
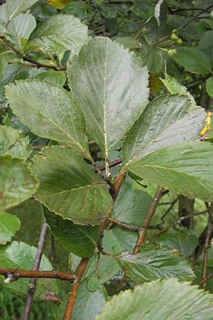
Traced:
[[87, 26], [75, 16], [60, 14], [40, 22], [28, 45], [49, 53], [70, 50], [73, 56], [87, 41]]

